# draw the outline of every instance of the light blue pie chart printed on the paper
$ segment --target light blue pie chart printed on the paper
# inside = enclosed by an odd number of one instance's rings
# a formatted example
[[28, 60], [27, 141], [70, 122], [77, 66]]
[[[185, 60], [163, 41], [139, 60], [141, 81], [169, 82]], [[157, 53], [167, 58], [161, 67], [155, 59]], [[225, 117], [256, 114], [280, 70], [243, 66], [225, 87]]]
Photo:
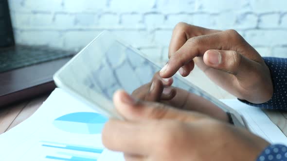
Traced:
[[100, 134], [108, 118], [99, 113], [69, 113], [56, 118], [53, 125], [66, 132]]

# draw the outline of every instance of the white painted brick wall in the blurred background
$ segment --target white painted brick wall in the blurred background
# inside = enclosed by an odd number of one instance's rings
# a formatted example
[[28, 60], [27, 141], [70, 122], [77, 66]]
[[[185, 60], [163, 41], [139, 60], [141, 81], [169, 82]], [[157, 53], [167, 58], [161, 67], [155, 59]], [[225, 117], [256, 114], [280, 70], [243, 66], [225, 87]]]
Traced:
[[172, 29], [184, 21], [235, 29], [263, 56], [287, 57], [287, 0], [9, 0], [9, 4], [21, 44], [79, 50], [109, 30], [165, 62]]

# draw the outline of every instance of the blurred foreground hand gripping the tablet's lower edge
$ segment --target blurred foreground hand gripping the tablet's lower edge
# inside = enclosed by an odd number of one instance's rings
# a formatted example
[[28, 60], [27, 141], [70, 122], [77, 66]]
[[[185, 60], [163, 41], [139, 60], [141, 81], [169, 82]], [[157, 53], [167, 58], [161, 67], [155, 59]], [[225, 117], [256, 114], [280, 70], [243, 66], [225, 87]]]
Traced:
[[255, 161], [268, 142], [245, 129], [161, 103], [138, 101], [125, 92], [114, 104], [126, 121], [109, 120], [103, 144], [126, 161]]

